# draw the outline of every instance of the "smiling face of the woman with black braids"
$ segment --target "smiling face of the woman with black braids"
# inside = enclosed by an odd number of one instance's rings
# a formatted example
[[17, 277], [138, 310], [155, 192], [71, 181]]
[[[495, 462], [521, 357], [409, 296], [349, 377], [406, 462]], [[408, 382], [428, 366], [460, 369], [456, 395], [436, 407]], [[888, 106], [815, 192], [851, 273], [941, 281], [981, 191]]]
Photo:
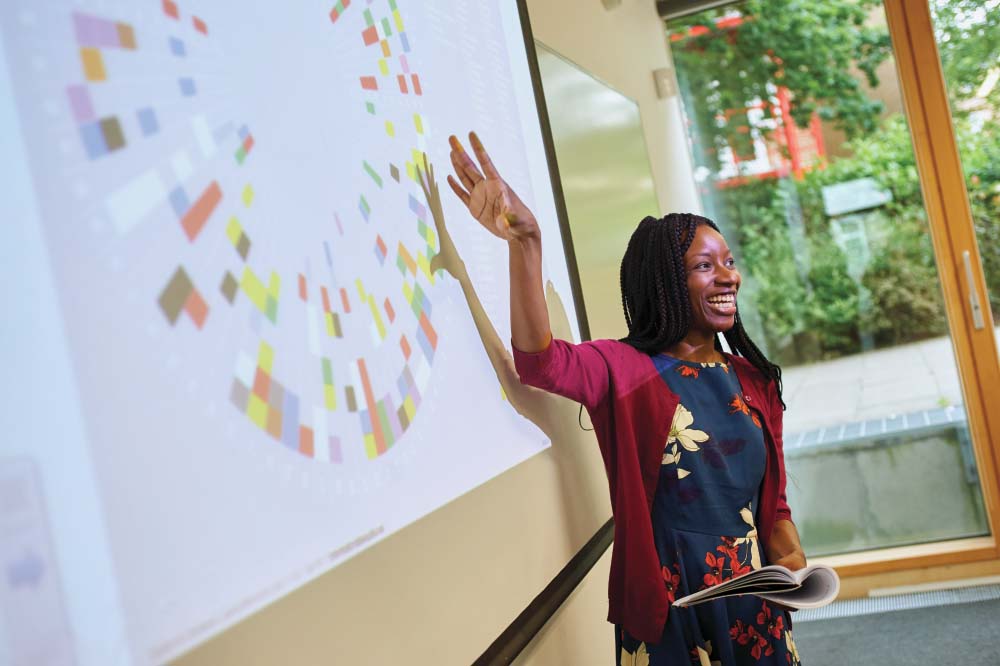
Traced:
[[731, 329], [736, 323], [740, 272], [722, 234], [707, 224], [699, 225], [691, 247], [684, 253], [684, 268], [691, 301], [691, 330], [714, 336]]

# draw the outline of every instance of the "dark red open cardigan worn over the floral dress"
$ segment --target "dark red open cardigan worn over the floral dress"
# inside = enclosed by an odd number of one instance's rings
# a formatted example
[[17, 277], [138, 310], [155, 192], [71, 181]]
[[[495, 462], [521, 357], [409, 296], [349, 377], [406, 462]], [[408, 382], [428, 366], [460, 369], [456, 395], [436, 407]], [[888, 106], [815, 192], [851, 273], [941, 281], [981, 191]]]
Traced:
[[[763, 545], [776, 521], [791, 520], [785, 501], [781, 401], [774, 383], [749, 361], [740, 356], [727, 358], [740, 380], [744, 401], [763, 424], [767, 465], [757, 525]], [[615, 519], [608, 621], [621, 624], [639, 640], [658, 643], [669, 604], [651, 516], [677, 396], [647, 354], [617, 340], [579, 345], [553, 340], [537, 353], [514, 348], [514, 364], [523, 384], [558, 393], [587, 408], [604, 458]]]

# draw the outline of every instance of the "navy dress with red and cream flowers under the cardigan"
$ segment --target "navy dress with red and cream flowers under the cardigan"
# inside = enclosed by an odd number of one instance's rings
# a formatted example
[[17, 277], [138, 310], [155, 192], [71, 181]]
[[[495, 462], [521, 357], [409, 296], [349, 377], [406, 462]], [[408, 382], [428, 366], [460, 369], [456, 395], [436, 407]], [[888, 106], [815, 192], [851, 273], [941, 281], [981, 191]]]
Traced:
[[[767, 564], [755, 514], [767, 452], [757, 414], [724, 363], [653, 357], [680, 398], [653, 499], [653, 535], [674, 599]], [[796, 666], [784, 611], [752, 595], [671, 607], [660, 642], [615, 627], [620, 666]]]

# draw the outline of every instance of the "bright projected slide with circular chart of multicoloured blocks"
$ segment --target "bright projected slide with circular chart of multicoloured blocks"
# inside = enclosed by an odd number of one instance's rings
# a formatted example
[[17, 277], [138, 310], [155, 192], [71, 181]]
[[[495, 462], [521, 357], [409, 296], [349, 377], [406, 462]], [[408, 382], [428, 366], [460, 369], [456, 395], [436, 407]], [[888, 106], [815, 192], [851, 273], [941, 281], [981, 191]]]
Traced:
[[[540, 142], [516, 10], [465, 4], [0, 8], [140, 661], [547, 444], [433, 263], [418, 165], [427, 153], [443, 181], [447, 133], [478, 129], [551, 207], [525, 147]], [[506, 248], [444, 190], [509, 339]], [[548, 272], [568, 295], [562, 262]]]

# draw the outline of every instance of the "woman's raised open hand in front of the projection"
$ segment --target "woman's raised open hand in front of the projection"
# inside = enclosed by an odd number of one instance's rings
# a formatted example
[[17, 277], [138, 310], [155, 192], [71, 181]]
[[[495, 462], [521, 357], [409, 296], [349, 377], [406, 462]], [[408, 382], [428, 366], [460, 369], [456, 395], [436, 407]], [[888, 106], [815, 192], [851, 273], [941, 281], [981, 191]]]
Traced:
[[468, 207], [469, 213], [493, 235], [507, 241], [537, 239], [539, 230], [535, 216], [500, 177], [475, 132], [469, 133], [469, 141], [482, 170], [458, 139], [450, 136], [451, 164], [458, 177], [448, 176], [452, 191]]

